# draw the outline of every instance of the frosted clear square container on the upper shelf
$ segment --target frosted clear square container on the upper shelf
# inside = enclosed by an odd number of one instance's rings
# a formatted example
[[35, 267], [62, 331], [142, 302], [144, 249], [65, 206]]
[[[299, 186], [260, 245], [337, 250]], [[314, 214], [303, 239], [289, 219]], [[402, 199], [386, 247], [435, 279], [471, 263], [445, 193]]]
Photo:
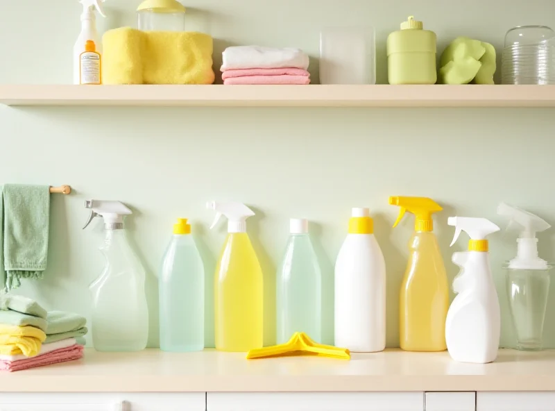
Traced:
[[321, 84], [375, 84], [373, 27], [333, 27], [320, 33]]

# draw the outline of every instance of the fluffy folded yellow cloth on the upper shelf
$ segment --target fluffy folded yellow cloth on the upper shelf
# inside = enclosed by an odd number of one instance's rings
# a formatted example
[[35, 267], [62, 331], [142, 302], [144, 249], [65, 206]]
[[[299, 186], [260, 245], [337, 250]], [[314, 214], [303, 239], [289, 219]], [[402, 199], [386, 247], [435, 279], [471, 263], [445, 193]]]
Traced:
[[123, 27], [102, 39], [104, 84], [212, 84], [212, 37]]

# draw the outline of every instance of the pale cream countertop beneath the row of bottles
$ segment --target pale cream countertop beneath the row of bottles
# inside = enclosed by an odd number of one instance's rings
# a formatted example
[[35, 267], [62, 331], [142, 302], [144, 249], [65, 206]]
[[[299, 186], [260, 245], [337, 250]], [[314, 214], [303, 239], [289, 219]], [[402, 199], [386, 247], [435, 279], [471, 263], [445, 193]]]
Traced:
[[244, 354], [85, 351], [85, 358], [0, 373], [0, 392], [370, 392], [555, 391], [555, 351], [499, 351], [492, 364], [454, 362], [449, 354], [353, 354], [352, 359]]

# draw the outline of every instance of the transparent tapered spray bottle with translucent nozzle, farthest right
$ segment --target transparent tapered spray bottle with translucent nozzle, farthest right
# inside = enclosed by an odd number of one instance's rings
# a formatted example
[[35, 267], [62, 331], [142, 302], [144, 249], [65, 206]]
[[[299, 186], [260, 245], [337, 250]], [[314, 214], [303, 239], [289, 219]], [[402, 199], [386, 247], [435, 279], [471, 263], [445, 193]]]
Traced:
[[552, 265], [538, 256], [536, 233], [551, 227], [537, 215], [501, 203], [497, 214], [518, 226], [517, 255], [504, 265], [507, 295], [513, 326], [517, 335], [517, 348], [538, 351], [542, 349], [543, 322], [549, 296], [549, 270]]

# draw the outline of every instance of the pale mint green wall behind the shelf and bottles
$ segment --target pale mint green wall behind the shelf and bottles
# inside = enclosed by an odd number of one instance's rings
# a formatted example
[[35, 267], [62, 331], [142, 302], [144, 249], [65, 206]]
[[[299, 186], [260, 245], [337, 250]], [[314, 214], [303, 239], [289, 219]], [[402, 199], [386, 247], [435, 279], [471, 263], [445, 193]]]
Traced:
[[[137, 3], [108, 0], [111, 17], [103, 26], [135, 24]], [[438, 33], [440, 49], [456, 35], [469, 35], [499, 50], [511, 26], [555, 26], [552, 0], [191, 0], [187, 6], [189, 28], [216, 38], [216, 61], [231, 44], [296, 46], [314, 58], [315, 80], [321, 26], [376, 26], [379, 83], [386, 81], [386, 34], [409, 14]], [[0, 83], [69, 83], [79, 15], [74, 0], [11, 2], [0, 15]], [[83, 201], [119, 199], [135, 210], [127, 226], [148, 269], [150, 344], [156, 345], [155, 272], [173, 219], [193, 219], [213, 266], [225, 224], [208, 232], [213, 215], [205, 201], [244, 201], [258, 212], [248, 226], [268, 285], [266, 342], [271, 343], [272, 285], [289, 217], [314, 221], [330, 284], [350, 208], [368, 206], [387, 262], [388, 346], [397, 346], [398, 288], [412, 219], [393, 230], [398, 210], [388, 205], [388, 196], [431, 196], [444, 205], [436, 233], [452, 278], [456, 267], [450, 255], [465, 242], [449, 249], [448, 216], [487, 217], [505, 226], [495, 208], [507, 201], [555, 224], [554, 114], [550, 109], [0, 107], [2, 182], [66, 183], [76, 189], [71, 196], [53, 196], [49, 269], [42, 282], [27, 283], [21, 292], [48, 308], [88, 316], [87, 285], [103, 266], [96, 251], [102, 229], [99, 223], [81, 230], [87, 218]], [[540, 235], [544, 258], [554, 260], [554, 246], [555, 230]], [[503, 310], [502, 346], [511, 346], [499, 267], [513, 255], [515, 240], [495, 235], [490, 249]], [[326, 308], [330, 314], [329, 299]], [[553, 295], [545, 328], [547, 345], [555, 347]], [[212, 330], [208, 337], [211, 341]]]

